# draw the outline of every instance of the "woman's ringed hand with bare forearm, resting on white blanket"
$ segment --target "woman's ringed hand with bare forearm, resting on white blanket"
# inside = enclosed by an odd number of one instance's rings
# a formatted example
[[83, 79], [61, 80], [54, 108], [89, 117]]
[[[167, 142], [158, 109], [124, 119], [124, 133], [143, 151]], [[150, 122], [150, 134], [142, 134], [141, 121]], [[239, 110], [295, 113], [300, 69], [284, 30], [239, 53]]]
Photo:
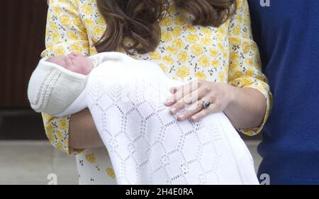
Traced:
[[[237, 88], [230, 84], [195, 80], [170, 89], [173, 96], [167, 99], [170, 112], [177, 113], [186, 104], [191, 105], [177, 116], [177, 120], [190, 118], [196, 122], [211, 113], [224, 112], [236, 128], [259, 127], [262, 124], [267, 105], [260, 91], [252, 88]], [[203, 108], [203, 101], [211, 105]]]

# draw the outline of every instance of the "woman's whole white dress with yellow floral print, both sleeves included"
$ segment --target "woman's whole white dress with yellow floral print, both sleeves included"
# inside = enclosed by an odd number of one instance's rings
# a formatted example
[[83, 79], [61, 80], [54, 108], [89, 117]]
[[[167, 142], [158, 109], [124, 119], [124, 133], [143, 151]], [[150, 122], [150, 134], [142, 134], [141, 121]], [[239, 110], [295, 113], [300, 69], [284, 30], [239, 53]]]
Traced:
[[[135, 55], [137, 59], [159, 64], [169, 78], [181, 81], [206, 79], [262, 92], [267, 100], [266, 122], [272, 95], [267, 78], [261, 72], [256, 43], [252, 38], [250, 14], [246, 0], [237, 0], [237, 12], [219, 28], [191, 25], [191, 16], [179, 11], [171, 0], [169, 12], [160, 22], [162, 38], [155, 52]], [[107, 28], [96, 0], [50, 0], [42, 57], [79, 52], [96, 54], [94, 42]], [[80, 183], [116, 183], [105, 148], [74, 150], [68, 147], [69, 116], [53, 118], [43, 113], [45, 132], [53, 146], [76, 155]], [[240, 130], [256, 135], [255, 129]]]

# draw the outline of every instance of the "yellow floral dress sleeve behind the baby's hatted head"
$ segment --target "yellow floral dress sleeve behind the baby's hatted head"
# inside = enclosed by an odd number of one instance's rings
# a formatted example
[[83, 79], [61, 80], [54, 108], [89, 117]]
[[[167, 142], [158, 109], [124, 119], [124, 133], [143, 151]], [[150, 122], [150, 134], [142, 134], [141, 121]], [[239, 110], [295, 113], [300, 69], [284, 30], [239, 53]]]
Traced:
[[[50, 0], [47, 11], [45, 48], [41, 57], [67, 55], [69, 52], [89, 55], [89, 40], [79, 16], [78, 0]], [[70, 115], [62, 118], [52, 117], [45, 113], [42, 115], [45, 133], [54, 147], [69, 156], [84, 151], [69, 148]]]

